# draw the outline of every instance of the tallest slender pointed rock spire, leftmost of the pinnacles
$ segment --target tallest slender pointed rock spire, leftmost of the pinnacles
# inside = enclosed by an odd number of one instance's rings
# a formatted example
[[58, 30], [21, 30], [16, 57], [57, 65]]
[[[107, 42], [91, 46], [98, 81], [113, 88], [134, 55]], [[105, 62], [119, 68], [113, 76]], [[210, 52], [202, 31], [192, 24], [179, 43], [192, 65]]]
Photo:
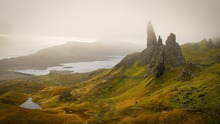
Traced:
[[156, 46], [157, 38], [154, 33], [154, 28], [152, 23], [149, 21], [147, 25], [147, 47]]

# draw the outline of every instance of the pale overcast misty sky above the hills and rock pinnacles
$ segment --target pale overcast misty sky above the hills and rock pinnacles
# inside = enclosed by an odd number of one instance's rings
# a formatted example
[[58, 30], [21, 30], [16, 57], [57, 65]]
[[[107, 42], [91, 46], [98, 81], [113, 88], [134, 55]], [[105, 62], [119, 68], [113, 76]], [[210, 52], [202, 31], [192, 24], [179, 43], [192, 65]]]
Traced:
[[220, 36], [220, 0], [0, 0], [0, 34], [146, 42]]

